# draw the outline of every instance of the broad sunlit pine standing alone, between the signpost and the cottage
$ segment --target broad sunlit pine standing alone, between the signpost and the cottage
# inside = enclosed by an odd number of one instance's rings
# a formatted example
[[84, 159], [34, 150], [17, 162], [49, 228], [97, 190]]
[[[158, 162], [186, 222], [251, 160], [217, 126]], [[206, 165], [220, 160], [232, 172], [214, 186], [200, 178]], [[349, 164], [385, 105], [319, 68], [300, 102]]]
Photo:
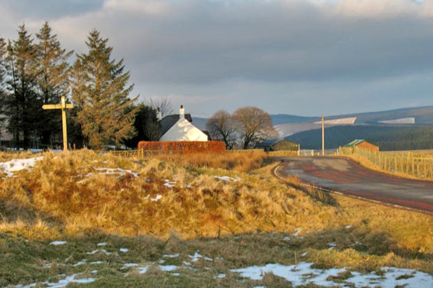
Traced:
[[[89, 146], [101, 149], [103, 145], [120, 145], [135, 135], [133, 126], [137, 109], [130, 110], [133, 101], [127, 86], [129, 72], [124, 73], [124, 61], [111, 59], [112, 47], [107, 45], [99, 31], [93, 30], [87, 38], [87, 54], [78, 55], [82, 66], [81, 87], [75, 87], [73, 100], [78, 103], [77, 119]], [[78, 82], [78, 79], [75, 79]]]

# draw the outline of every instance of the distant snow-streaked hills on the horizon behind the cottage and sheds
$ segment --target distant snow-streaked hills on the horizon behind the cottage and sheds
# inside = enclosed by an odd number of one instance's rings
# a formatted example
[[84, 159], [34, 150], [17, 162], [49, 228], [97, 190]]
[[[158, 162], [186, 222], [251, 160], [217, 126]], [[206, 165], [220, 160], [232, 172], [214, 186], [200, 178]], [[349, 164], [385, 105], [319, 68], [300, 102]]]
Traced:
[[[300, 143], [301, 149], [321, 149], [320, 116], [271, 114], [280, 137]], [[356, 117], [351, 125], [346, 119]], [[339, 121], [332, 121], [339, 119]], [[193, 117], [193, 124], [206, 130], [205, 118]], [[433, 106], [393, 109], [381, 112], [325, 116], [325, 146], [343, 146], [353, 139], [366, 139], [383, 151], [433, 149]]]

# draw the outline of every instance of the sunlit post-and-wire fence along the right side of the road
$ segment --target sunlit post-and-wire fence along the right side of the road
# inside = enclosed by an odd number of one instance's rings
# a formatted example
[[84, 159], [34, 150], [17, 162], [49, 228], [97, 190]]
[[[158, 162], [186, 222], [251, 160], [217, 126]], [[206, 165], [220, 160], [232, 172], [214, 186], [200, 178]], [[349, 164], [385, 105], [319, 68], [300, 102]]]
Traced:
[[353, 154], [366, 158], [376, 167], [389, 172], [419, 179], [433, 179], [433, 151], [377, 152], [358, 148], [339, 149], [339, 155]]

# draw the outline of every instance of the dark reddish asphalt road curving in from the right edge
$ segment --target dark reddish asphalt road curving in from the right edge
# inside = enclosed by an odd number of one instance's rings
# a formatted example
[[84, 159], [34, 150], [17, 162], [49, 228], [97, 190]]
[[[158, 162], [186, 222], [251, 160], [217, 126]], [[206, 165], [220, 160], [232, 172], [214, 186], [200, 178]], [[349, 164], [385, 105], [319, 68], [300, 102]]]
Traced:
[[382, 174], [347, 158], [281, 159], [283, 162], [275, 169], [279, 176], [294, 175], [327, 190], [433, 213], [433, 181]]

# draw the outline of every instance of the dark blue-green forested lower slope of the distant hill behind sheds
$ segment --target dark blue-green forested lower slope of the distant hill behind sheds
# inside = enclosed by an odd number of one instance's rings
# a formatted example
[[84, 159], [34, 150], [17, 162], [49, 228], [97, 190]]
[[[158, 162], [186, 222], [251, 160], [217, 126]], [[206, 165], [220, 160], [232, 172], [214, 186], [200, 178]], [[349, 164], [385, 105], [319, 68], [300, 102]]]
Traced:
[[[321, 129], [299, 132], [286, 137], [300, 144], [301, 149], [321, 149]], [[327, 149], [344, 146], [353, 139], [366, 139], [380, 146], [381, 151], [433, 149], [433, 125], [332, 126], [325, 128]]]

